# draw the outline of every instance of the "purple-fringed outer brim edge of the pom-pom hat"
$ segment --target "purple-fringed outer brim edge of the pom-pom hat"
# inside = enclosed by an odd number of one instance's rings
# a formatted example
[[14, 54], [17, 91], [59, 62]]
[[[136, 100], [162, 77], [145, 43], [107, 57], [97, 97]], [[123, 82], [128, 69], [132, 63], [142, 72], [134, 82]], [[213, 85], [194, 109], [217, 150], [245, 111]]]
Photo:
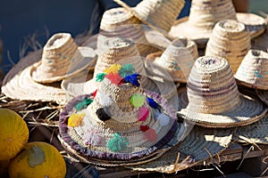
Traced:
[[[65, 142], [64, 144], [65, 148], [71, 151], [72, 154], [78, 156], [77, 158], [80, 158], [81, 161], [87, 161], [88, 163], [102, 165], [102, 166], [123, 166], [123, 165], [131, 165], [131, 164], [132, 165], [141, 164], [147, 158], [151, 157], [152, 154], [153, 155], [159, 154], [159, 156], [161, 156], [161, 153], [163, 151], [168, 150], [167, 149], [168, 147], [163, 148], [163, 146], [172, 140], [172, 138], [175, 136], [176, 130], [180, 129], [180, 127], [182, 126], [182, 125], [178, 125], [176, 120], [173, 120], [173, 122], [171, 123], [172, 125], [168, 127], [164, 126], [163, 130], [162, 129], [160, 130], [161, 132], [165, 132], [164, 134], [162, 133], [164, 135], [163, 138], [159, 138], [160, 140], [156, 142], [153, 146], [149, 146], [149, 147], [143, 146], [141, 148], [138, 148], [138, 147], [136, 148], [135, 146], [135, 148], [133, 148], [134, 152], [107, 153], [105, 151], [102, 151], [103, 150], [102, 147], [100, 147], [99, 150], [94, 149], [94, 147], [97, 147], [97, 146], [93, 146], [93, 145], [91, 145], [90, 147], [84, 147], [81, 144], [82, 141], [80, 141], [81, 135], [79, 135], [78, 132], [76, 132], [72, 127], [69, 127], [67, 123], [68, 123], [68, 119], [71, 113], [74, 112], [74, 109], [73, 109], [74, 106], [78, 102], [84, 101], [86, 98], [91, 97], [91, 96], [92, 94], [80, 95], [72, 99], [71, 101], [69, 101], [66, 107], [61, 112], [60, 120], [59, 120], [60, 134], [61, 134], [61, 137], [63, 138], [62, 139], [63, 142]], [[149, 96], [151, 95], [149, 94]], [[163, 107], [163, 110], [168, 109], [167, 106], [163, 105], [163, 103], [159, 103], [159, 104], [161, 107]], [[85, 111], [88, 112], [88, 109], [85, 109]], [[96, 125], [91, 125], [91, 126], [93, 126], [94, 128], [98, 128]], [[106, 132], [109, 132], [109, 131], [107, 130]], [[145, 143], [145, 145], [150, 145], [150, 144]], [[160, 150], [160, 153], [159, 151], [155, 152], [156, 150]]]

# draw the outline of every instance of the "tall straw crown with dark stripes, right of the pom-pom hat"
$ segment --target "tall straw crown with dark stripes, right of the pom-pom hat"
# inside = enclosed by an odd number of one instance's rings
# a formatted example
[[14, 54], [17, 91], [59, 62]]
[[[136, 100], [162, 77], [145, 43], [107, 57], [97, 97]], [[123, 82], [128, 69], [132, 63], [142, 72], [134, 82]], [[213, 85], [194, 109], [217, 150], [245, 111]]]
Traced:
[[239, 105], [239, 91], [228, 61], [199, 57], [188, 77], [188, 109], [219, 114]]

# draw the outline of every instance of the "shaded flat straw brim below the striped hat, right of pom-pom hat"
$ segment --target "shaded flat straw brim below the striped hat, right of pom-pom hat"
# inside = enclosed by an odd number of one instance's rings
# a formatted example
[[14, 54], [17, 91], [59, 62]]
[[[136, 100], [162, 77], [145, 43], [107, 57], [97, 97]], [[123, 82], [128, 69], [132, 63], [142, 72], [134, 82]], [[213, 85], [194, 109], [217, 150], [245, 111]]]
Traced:
[[[228, 147], [232, 138], [231, 133], [230, 129], [206, 129], [196, 125], [179, 145], [173, 146], [161, 158], [128, 168], [133, 171], [176, 173], [205, 160], [209, 161], [211, 157], [220, 154]], [[179, 153], [180, 158], [177, 162]]]

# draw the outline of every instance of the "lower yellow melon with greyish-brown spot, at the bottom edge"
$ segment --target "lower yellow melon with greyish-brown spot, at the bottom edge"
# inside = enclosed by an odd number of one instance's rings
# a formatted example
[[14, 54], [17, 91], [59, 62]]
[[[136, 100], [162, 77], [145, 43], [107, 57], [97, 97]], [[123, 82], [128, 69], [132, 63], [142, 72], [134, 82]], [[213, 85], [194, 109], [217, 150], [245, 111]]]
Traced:
[[63, 178], [66, 164], [60, 152], [46, 142], [29, 142], [9, 166], [10, 178]]

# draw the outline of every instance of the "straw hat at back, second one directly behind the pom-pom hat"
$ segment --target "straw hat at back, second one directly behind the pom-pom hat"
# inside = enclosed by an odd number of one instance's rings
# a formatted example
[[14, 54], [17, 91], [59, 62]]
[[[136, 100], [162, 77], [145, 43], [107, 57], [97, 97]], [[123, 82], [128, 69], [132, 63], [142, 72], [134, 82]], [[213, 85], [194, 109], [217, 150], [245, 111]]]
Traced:
[[100, 24], [100, 32], [97, 36], [97, 49], [101, 50], [105, 38], [114, 36], [121, 36], [134, 41], [141, 56], [147, 56], [148, 53], [161, 50], [159, 46], [147, 42], [140, 20], [122, 7], [113, 8], [104, 13]]

